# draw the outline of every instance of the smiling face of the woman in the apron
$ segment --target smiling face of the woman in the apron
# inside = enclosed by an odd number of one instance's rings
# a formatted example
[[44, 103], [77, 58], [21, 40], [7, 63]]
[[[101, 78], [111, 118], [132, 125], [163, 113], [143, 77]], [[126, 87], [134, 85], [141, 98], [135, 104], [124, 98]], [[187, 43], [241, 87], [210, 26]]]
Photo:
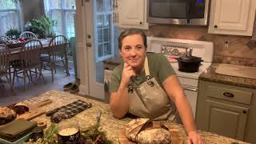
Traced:
[[134, 69], [142, 68], [146, 57], [146, 47], [142, 36], [133, 34], [122, 39], [122, 47], [119, 50], [124, 62]]

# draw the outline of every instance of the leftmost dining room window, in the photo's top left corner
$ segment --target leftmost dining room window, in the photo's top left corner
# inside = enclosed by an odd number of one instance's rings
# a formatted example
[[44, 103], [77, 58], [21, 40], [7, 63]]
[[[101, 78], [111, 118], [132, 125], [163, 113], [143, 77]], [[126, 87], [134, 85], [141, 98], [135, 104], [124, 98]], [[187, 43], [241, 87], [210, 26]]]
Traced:
[[21, 14], [18, 0], [0, 0], [0, 35], [10, 29], [22, 30]]

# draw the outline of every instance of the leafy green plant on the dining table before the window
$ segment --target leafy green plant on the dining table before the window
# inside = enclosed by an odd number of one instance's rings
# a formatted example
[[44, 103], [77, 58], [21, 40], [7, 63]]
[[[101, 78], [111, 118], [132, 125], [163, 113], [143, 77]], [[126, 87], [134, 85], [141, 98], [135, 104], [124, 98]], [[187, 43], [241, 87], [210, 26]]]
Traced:
[[57, 21], [51, 20], [46, 15], [42, 15], [41, 18], [32, 19], [31, 25], [28, 26], [28, 30], [38, 35], [38, 38], [54, 37], [54, 26], [57, 26]]

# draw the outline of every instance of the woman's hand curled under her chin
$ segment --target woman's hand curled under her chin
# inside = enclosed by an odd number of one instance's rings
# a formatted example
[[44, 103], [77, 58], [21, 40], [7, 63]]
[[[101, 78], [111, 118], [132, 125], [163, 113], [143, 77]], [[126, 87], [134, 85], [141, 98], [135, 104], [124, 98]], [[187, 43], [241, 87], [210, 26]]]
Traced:
[[122, 81], [120, 83], [120, 86], [129, 86], [130, 78], [133, 76], [136, 76], [133, 68], [129, 66], [127, 63], [124, 63], [122, 70]]

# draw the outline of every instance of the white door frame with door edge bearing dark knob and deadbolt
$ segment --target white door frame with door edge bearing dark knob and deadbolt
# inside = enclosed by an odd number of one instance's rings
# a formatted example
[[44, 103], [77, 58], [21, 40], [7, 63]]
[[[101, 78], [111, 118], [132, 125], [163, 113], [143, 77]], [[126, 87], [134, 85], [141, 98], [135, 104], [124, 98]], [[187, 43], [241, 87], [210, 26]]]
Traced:
[[[77, 0], [76, 5], [81, 3]], [[96, 50], [94, 45], [94, 0], [82, 1], [77, 8], [76, 37], [78, 41], [78, 78], [80, 78], [79, 94], [105, 99], [104, 84], [96, 81]], [[87, 20], [87, 21], [86, 21]], [[86, 61], [86, 62], [85, 62]]]

